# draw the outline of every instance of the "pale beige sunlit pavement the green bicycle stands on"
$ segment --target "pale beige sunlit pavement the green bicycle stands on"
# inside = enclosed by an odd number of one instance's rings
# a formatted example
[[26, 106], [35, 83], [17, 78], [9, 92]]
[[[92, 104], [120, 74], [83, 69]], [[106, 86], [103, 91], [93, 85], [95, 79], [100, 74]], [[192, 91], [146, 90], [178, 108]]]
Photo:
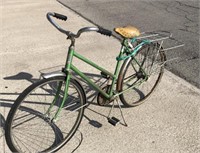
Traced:
[[[65, 63], [69, 41], [47, 21], [46, 13], [67, 15], [67, 22], [58, 23], [73, 32], [95, 25], [55, 0], [3, 1], [0, 9], [0, 152], [10, 153], [4, 124], [13, 102], [41, 72], [59, 70]], [[95, 32], [83, 34], [76, 44], [79, 53], [111, 72], [119, 49], [117, 39]], [[99, 72], [74, 62], [100, 83]], [[165, 70], [157, 90], [144, 104], [122, 109], [128, 127], [110, 125], [106, 119], [110, 107], [98, 106], [97, 93], [85, 84], [84, 89], [90, 105], [78, 132], [59, 153], [200, 152], [200, 90], [170, 71]], [[113, 115], [121, 119], [117, 108]]]

